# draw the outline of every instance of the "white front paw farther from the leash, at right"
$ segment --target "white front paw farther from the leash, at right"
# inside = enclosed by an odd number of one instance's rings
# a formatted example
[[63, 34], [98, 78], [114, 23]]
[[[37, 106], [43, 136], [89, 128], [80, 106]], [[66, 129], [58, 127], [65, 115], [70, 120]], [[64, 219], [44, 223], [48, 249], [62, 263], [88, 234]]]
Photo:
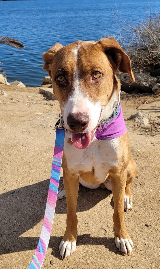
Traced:
[[115, 238], [116, 247], [119, 249], [119, 251], [122, 251], [126, 255], [131, 255], [131, 251], [133, 248], [133, 242], [131, 239], [123, 239], [123, 238]]

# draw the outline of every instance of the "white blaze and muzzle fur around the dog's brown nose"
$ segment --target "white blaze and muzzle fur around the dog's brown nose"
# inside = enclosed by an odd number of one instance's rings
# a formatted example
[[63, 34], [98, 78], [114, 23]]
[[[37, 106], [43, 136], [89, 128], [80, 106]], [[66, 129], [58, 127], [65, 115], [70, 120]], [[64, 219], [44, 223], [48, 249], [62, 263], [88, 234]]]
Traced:
[[[64, 123], [67, 129], [69, 129], [69, 126], [67, 125], [67, 116], [68, 114], [75, 114], [75, 113], [87, 113], [89, 115], [89, 125], [85, 129], [85, 133], [92, 131], [95, 129], [95, 127], [98, 124], [99, 116], [101, 113], [101, 106], [100, 104], [93, 103], [91, 100], [89, 100], [89, 97], [84, 96], [84, 89], [82, 89], [80, 85], [80, 76], [79, 76], [79, 70], [78, 70], [78, 50], [80, 48], [80, 45], [77, 46], [76, 49], [73, 49], [73, 53], [75, 56], [75, 62], [76, 62], [76, 68], [74, 71], [73, 76], [73, 94], [69, 97], [66, 105], [63, 108], [64, 111]], [[87, 95], [87, 89], [86, 89], [86, 95]]]

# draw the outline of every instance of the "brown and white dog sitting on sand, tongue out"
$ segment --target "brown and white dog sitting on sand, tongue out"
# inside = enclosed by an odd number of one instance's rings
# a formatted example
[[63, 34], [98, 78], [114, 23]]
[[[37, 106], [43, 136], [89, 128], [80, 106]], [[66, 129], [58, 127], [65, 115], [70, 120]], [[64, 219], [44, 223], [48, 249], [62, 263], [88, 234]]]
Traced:
[[117, 69], [134, 81], [131, 61], [111, 37], [65, 47], [57, 43], [43, 59], [67, 129], [62, 161], [65, 189], [58, 194], [58, 198], [66, 195], [67, 200], [67, 227], [59, 246], [62, 259], [76, 251], [79, 182], [88, 188], [104, 184], [112, 190], [116, 247], [130, 254], [133, 242], [125, 227], [124, 208], [128, 211], [132, 207], [130, 185], [137, 166], [129, 156], [129, 137], [126, 132], [98, 141], [95, 131], [99, 122], [112, 114], [118, 99], [121, 84], [115, 75]]

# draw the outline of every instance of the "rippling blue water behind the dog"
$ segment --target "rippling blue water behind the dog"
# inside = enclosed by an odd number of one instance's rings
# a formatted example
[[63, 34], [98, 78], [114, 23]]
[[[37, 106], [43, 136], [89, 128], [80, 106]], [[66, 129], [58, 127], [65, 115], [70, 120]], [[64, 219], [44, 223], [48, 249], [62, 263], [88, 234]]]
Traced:
[[[118, 20], [131, 23], [149, 14], [149, 0], [26, 0], [0, 1], [0, 35], [18, 39], [18, 50], [0, 44], [1, 66], [7, 80], [39, 86], [47, 73], [42, 69], [42, 53], [59, 42], [99, 40], [117, 36]], [[159, 0], [152, 1], [152, 13], [160, 13]]]

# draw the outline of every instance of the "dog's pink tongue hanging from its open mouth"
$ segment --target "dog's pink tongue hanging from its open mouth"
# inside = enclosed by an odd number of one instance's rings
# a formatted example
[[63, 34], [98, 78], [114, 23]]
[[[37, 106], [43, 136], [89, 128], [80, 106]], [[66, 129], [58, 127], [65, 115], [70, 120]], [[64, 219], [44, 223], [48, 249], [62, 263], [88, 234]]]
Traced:
[[77, 149], [85, 149], [91, 141], [91, 132], [72, 134], [72, 141]]

